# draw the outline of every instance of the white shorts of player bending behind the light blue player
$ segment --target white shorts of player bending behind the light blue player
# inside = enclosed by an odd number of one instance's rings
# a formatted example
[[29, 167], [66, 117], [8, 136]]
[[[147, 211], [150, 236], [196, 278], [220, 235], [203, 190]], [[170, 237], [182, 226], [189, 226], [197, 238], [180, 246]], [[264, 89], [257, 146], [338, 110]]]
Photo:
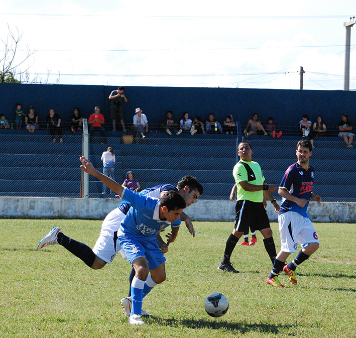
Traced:
[[124, 259], [127, 258], [117, 241], [117, 231], [125, 216], [125, 213], [116, 208], [109, 212], [102, 222], [100, 236], [95, 243], [93, 253], [107, 264], [113, 261], [118, 252]]

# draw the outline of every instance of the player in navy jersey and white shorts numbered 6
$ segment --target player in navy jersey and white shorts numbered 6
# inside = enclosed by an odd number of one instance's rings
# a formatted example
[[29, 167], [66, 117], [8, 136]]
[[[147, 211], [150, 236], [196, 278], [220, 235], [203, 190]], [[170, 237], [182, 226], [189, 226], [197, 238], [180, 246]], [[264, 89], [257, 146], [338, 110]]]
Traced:
[[[321, 202], [321, 197], [312, 192], [314, 168], [309, 166], [311, 153], [310, 141], [298, 142], [296, 150], [298, 161], [287, 169], [278, 189], [278, 193], [282, 196], [278, 216], [281, 251], [275, 259], [267, 284], [284, 287], [278, 279], [282, 271], [289, 276], [291, 283], [297, 284], [294, 271], [319, 248], [318, 235], [307, 214], [310, 199]], [[302, 250], [291, 263], [286, 265], [288, 256], [297, 251], [298, 242]]]

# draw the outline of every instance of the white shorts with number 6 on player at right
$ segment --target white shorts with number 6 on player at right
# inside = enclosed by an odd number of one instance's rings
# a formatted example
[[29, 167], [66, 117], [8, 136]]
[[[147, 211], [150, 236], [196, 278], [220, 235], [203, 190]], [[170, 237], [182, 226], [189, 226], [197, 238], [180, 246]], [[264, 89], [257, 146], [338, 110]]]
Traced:
[[304, 248], [308, 243], [319, 243], [313, 223], [298, 212], [288, 211], [278, 215], [281, 250], [294, 253], [298, 242]]

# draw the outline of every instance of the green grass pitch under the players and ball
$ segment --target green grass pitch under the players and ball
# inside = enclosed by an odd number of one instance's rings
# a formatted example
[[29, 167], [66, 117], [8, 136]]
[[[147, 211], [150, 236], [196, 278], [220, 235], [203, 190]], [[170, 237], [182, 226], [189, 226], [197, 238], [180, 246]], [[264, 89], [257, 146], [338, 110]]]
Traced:
[[[316, 223], [320, 249], [298, 268], [297, 286], [281, 275], [284, 289], [266, 284], [272, 266], [261, 234], [234, 250], [234, 275], [217, 270], [232, 223], [195, 222], [195, 238], [182, 227], [166, 254], [167, 280], [144, 299], [154, 317], [143, 327], [122, 314], [131, 267], [120, 256], [94, 271], [61, 246], [36, 251], [55, 225], [93, 247], [101, 221], [0, 220], [2, 338], [356, 337], [355, 224]], [[229, 300], [221, 318], [205, 313], [212, 292]]]

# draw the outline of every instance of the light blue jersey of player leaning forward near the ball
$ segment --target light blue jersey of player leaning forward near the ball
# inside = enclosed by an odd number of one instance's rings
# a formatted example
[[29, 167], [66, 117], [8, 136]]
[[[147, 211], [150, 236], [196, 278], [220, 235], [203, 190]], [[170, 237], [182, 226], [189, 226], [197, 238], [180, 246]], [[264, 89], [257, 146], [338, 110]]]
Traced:
[[132, 208], [128, 211], [120, 230], [124, 234], [134, 236], [156, 237], [157, 233], [168, 226], [179, 227], [177, 222], [160, 220], [160, 200], [125, 188], [122, 199]]

